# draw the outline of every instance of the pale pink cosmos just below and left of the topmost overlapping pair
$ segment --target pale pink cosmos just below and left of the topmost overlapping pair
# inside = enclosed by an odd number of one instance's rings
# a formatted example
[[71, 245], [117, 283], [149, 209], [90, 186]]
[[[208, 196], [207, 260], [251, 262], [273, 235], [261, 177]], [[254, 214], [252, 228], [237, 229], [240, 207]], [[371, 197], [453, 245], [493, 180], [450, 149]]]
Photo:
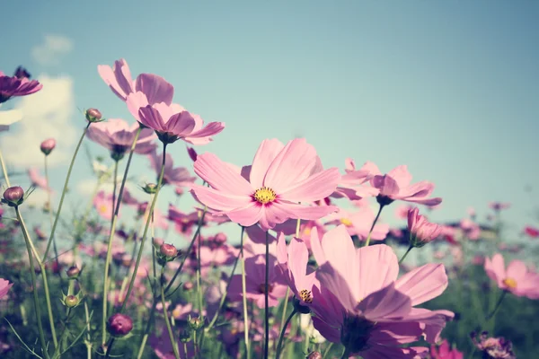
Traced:
[[[93, 142], [101, 144], [110, 151], [112, 158], [122, 158], [129, 151], [137, 134], [138, 124], [129, 126], [121, 118], [110, 118], [104, 122], [94, 123], [88, 128], [87, 136]], [[140, 132], [135, 153], [147, 154], [155, 150], [154, 131], [145, 128]]]

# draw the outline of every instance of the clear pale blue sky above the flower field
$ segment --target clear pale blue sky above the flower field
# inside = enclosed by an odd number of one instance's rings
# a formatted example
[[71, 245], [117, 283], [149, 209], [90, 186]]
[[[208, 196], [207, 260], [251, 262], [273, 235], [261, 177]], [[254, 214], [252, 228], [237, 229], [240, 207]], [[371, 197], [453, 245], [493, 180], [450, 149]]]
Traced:
[[[174, 101], [226, 123], [199, 153], [246, 164], [265, 138], [305, 136], [326, 167], [342, 168], [347, 157], [382, 171], [408, 164], [414, 180], [433, 181], [444, 198], [435, 220], [459, 219], [468, 206], [484, 216], [500, 200], [513, 204], [505, 217], [515, 231], [534, 223], [537, 191], [524, 188], [539, 178], [539, 3], [148, 4], [3, 2], [0, 70], [65, 76], [73, 109], [132, 121], [96, 70], [124, 57], [133, 74], [174, 84]], [[69, 46], [36, 53], [46, 35]], [[76, 111], [69, 118], [78, 136], [84, 119]], [[18, 136], [19, 126], [0, 138]], [[75, 136], [58, 141], [73, 146]], [[191, 166], [183, 144], [170, 150]], [[74, 183], [90, 174], [82, 158]], [[63, 163], [53, 173], [57, 189]], [[134, 173], [147, 164], [137, 158]], [[393, 209], [385, 218], [394, 223]]]

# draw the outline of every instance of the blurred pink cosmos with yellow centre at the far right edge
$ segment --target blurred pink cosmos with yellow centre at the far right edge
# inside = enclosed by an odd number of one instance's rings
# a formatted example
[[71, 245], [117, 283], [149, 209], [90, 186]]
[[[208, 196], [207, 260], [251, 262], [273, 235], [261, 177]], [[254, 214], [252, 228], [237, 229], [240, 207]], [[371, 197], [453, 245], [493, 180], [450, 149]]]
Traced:
[[519, 297], [539, 299], [539, 275], [529, 271], [523, 261], [513, 260], [506, 268], [503, 257], [496, 253], [492, 259], [485, 258], [484, 267], [487, 276], [496, 281], [499, 289]]

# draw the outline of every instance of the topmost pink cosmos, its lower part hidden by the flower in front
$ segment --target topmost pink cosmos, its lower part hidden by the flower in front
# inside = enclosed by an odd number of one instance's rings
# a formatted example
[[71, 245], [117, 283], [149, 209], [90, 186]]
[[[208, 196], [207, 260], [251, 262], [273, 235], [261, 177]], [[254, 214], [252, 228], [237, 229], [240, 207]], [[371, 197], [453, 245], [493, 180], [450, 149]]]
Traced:
[[134, 92], [146, 94], [146, 101], [154, 104], [164, 102], [168, 105], [172, 102], [174, 87], [167, 83], [163, 77], [155, 74], [139, 74], [137, 80], [131, 77], [131, 71], [126, 60], [120, 58], [114, 61], [114, 66], [97, 66], [97, 72], [107, 83], [110, 90], [122, 101], [127, 101], [128, 95]]

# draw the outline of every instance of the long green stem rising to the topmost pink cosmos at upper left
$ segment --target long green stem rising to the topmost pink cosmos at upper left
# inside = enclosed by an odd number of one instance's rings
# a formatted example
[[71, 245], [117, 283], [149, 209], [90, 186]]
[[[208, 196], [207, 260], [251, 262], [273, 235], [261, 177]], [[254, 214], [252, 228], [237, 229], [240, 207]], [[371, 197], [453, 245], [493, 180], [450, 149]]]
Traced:
[[[140, 135], [140, 131], [142, 131], [142, 127], [138, 127], [137, 133], [135, 134], [135, 138], [133, 138], [133, 143], [131, 144], [131, 149], [129, 151], [128, 163], [126, 164], [126, 170], [124, 171], [123, 179], [121, 180], [121, 185], [119, 187], [118, 201], [116, 203], [116, 206], [115, 207], [113, 206], [114, 215], [112, 215], [112, 222], [110, 223], [110, 235], [109, 235], [109, 242], [107, 243], [107, 257], [105, 259], [105, 272], [103, 275], [102, 346], [105, 346], [107, 342], [107, 304], [109, 301], [107, 293], [109, 290], [109, 267], [110, 267], [110, 260], [112, 257], [112, 241], [114, 240], [114, 234], [116, 233], [116, 223], [118, 222], [119, 206], [121, 204], [121, 197], [123, 195], [123, 189], [126, 185], [126, 180], [128, 180], [129, 166], [131, 164], [131, 160], [133, 159], [133, 153], [135, 151], [135, 147], [137, 146], [137, 140], [138, 140], [138, 136]], [[115, 162], [115, 168], [114, 168], [115, 185], [116, 185], [117, 171], [118, 171], [118, 162]], [[124, 299], [124, 303], [126, 302], [126, 300], [127, 299]]]

